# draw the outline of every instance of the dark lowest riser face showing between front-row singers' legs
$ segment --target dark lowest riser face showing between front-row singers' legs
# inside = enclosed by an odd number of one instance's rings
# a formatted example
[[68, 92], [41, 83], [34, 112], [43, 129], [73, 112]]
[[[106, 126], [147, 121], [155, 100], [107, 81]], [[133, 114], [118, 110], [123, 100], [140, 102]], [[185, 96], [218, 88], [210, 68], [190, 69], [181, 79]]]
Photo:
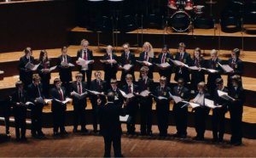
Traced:
[[[175, 126], [173, 118], [174, 118], [173, 112], [170, 111], [169, 126]], [[52, 119], [53, 119], [52, 113], [45, 113], [43, 115], [43, 127], [46, 127], [46, 128], [53, 127]], [[85, 120], [86, 120], [86, 124], [92, 124], [92, 110], [86, 110]], [[3, 121], [0, 121], [0, 122], [1, 124], [4, 123]], [[206, 122], [207, 122], [207, 130], [212, 130], [212, 116], [208, 116]], [[140, 124], [139, 111], [137, 114], [136, 124]], [[73, 111], [67, 111], [66, 126], [72, 126], [72, 125], [73, 125]], [[153, 125], [157, 125], [156, 110], [153, 110]], [[11, 121], [10, 126], [14, 127], [15, 126], [14, 122]], [[194, 126], [195, 126], [194, 113], [189, 112], [188, 127], [194, 127]], [[27, 124], [26, 128], [30, 129], [31, 124]], [[255, 130], [256, 130], [255, 123], [242, 122], [242, 133], [244, 138], [255, 139], [256, 135], [255, 133], [253, 133]], [[137, 128], [137, 132], [139, 132], [139, 128]], [[172, 131], [172, 133], [176, 133], [176, 131]], [[225, 133], [230, 133], [230, 119], [225, 119]], [[190, 134], [188, 133], [188, 135]]]

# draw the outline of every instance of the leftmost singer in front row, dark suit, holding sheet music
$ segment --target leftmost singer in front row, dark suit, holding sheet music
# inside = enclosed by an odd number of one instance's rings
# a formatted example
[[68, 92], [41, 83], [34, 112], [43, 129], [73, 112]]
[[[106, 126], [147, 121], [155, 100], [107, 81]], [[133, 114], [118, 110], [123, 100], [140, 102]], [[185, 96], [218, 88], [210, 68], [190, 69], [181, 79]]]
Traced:
[[14, 107], [16, 141], [26, 141], [26, 91], [21, 81], [15, 83], [11, 102]]

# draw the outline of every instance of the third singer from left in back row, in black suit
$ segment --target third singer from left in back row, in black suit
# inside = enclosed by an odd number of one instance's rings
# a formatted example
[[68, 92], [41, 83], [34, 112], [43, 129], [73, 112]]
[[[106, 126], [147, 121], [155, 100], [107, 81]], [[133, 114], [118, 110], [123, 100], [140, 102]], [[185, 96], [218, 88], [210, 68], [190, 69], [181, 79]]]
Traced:
[[72, 69], [69, 64], [72, 63], [71, 56], [67, 55], [67, 47], [61, 48], [61, 55], [58, 57], [57, 65], [59, 68], [59, 75], [62, 82], [62, 86], [67, 90], [69, 94], [69, 82], [72, 81]]

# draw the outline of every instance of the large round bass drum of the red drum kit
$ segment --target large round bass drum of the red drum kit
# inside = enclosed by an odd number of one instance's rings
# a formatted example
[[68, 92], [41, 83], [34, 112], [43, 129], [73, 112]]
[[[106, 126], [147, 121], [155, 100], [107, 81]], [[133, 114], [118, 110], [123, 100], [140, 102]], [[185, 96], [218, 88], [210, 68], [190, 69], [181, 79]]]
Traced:
[[171, 25], [174, 31], [188, 31], [191, 24], [191, 17], [185, 11], [177, 11], [171, 16]]

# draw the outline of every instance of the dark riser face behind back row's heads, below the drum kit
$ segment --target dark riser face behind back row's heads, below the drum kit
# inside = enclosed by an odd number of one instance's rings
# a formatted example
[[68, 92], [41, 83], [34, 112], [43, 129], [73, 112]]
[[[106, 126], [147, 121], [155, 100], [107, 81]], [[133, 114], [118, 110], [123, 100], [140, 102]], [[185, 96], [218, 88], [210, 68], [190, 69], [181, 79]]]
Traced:
[[[164, 33], [164, 32], [163, 32]], [[143, 39], [142, 39], [143, 37]], [[97, 45], [97, 33], [96, 32], [82, 32], [82, 31], [70, 31], [69, 32], [69, 44], [77, 45], [82, 39], [88, 39], [90, 45]], [[143, 36], [141, 33], [138, 34], [138, 44], [141, 47], [143, 42], [151, 42], [154, 48], [162, 48], [164, 43], [168, 44], [170, 48], [177, 48], [178, 42], [185, 42], [187, 48], [202, 48], [202, 49], [224, 49], [231, 50], [234, 47], [242, 48], [242, 37], [218, 37], [218, 34], [214, 36], [188, 36], [185, 34], [169, 34], [165, 36], [162, 34], [148, 34], [144, 33]], [[113, 35], [112, 33], [100, 33], [100, 42], [104, 44], [113, 44]], [[220, 40], [220, 41], [219, 41]], [[247, 51], [253, 51], [256, 49], [256, 36], [255, 37], [244, 37], [243, 38], [243, 48]], [[131, 33], [120, 33], [118, 34], [118, 46], [122, 46], [125, 42], [137, 43], [137, 34]], [[218, 45], [220, 42], [220, 45]]]

